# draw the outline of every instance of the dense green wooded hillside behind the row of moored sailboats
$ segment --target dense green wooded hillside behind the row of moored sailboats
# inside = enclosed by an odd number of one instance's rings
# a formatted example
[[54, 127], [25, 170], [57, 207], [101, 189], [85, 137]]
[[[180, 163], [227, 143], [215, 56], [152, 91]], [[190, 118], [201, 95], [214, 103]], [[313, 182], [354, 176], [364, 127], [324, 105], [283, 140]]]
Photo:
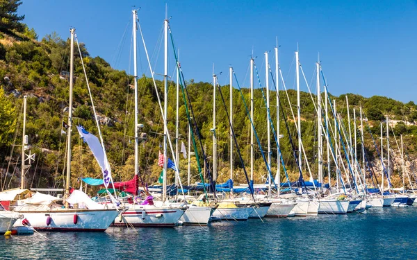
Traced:
[[[10, 19], [1, 21], [0, 24], [0, 164], [1, 164], [1, 187], [2, 189], [17, 187], [19, 184], [19, 146], [13, 144], [22, 143], [22, 94], [28, 96], [26, 135], [31, 144], [31, 153], [37, 157], [26, 174], [27, 187], [63, 187], [63, 173], [65, 171], [65, 139], [62, 133], [63, 121], [67, 121], [68, 106], [68, 76], [69, 71], [69, 40], [63, 40], [56, 33], [51, 33], [38, 41], [33, 29], [20, 24], [23, 17], [13, 16], [19, 1], [0, 1], [0, 6], [6, 3], [13, 3], [11, 6]], [[16, 6], [17, 5], [17, 6]], [[13, 18], [14, 17], [14, 18]], [[11, 24], [10, 24], [11, 23]], [[75, 47], [77, 49], [77, 47]], [[84, 44], [81, 44], [83, 62], [87, 67], [88, 80], [92, 89], [97, 113], [101, 123], [101, 130], [104, 135], [106, 151], [111, 161], [113, 177], [116, 181], [129, 180], [133, 177], [133, 77], [125, 71], [117, 71], [111, 68], [110, 64], [100, 57], [92, 58]], [[93, 113], [86, 87], [81, 59], [78, 51], [75, 54], [74, 63], [74, 123], [81, 124], [85, 129], [97, 134]], [[161, 93], [162, 83], [156, 82]], [[140, 142], [140, 173], [142, 178], [149, 184], [158, 180], [161, 168], [157, 165], [158, 150], [162, 144], [163, 132], [161, 113], [158, 109], [156, 92], [152, 79], [142, 76], [138, 79], [139, 86], [139, 122], [144, 125], [141, 132], [147, 134], [147, 139]], [[203, 144], [206, 146], [206, 153], [212, 154], [212, 111], [213, 111], [213, 86], [211, 83], [188, 82], [188, 92], [192, 100], [195, 119], [202, 135]], [[245, 101], [249, 105], [249, 91], [242, 90]], [[229, 86], [222, 87], [222, 94], [225, 100], [229, 101]], [[271, 92], [271, 107], [276, 107], [276, 92]], [[250, 155], [250, 121], [246, 116], [245, 106], [240, 98], [238, 89], [234, 89], [234, 130], [240, 151], [249, 171]], [[163, 96], [163, 95], [161, 95]], [[291, 136], [296, 142], [296, 131], [291, 115], [290, 105], [285, 92], [280, 92], [281, 105], [284, 107]], [[288, 91], [291, 103], [296, 103], [294, 90]], [[353, 109], [356, 110], [357, 125], [359, 126], [359, 107], [363, 107], [364, 114], [369, 119], [370, 132], [374, 138], [379, 137], [379, 121], [384, 120], [388, 115], [395, 120], [394, 132], [396, 137], [404, 135], [404, 143], [407, 153], [414, 159], [416, 155], [417, 126], [414, 125], [417, 119], [417, 106], [410, 101], [401, 103], [391, 98], [373, 96], [365, 98], [357, 94], [346, 94], [331, 96], [336, 99], [338, 112], [343, 116], [347, 125], [347, 109], [345, 96], [349, 98], [350, 116], [352, 119]], [[316, 96], [313, 95], [316, 100]], [[170, 82], [168, 104], [168, 128], [171, 136], [175, 131], [175, 84]], [[302, 137], [307, 159], [310, 162], [314, 177], [317, 175], [317, 123], [316, 111], [308, 93], [302, 92]], [[224, 182], [229, 178], [229, 123], [227, 122], [226, 111], [228, 104], [224, 107], [220, 96], [217, 99], [217, 137], [218, 137], [218, 182]], [[296, 113], [296, 111], [294, 111]], [[277, 111], [271, 109], [271, 118], [275, 121]], [[180, 107], [180, 129], [181, 137], [187, 137], [188, 125], [186, 121], [186, 108], [181, 99]], [[265, 150], [266, 133], [266, 110], [263, 103], [261, 89], [254, 92], [254, 124], [259, 139]], [[293, 159], [291, 144], [286, 130], [286, 123], [281, 116], [280, 133], [284, 134], [281, 139], [281, 150], [284, 162], [288, 168], [291, 180], [297, 179], [295, 160]], [[353, 120], [351, 120], [353, 130]], [[397, 122], [398, 121], [398, 122]], [[333, 119], [331, 119], [333, 123]], [[366, 123], [365, 123], [366, 125]], [[64, 129], [65, 130], [65, 129]], [[365, 132], [365, 143], [368, 155], [375, 160], [377, 156], [373, 141], [367, 128]], [[88, 147], [79, 139], [76, 130], [72, 135], [72, 186], [79, 186], [79, 177], [99, 177], [101, 175], [98, 165], [90, 154]], [[385, 130], [384, 130], [385, 133]], [[272, 140], [272, 172], [277, 169], [277, 149], [274, 138]], [[181, 141], [187, 144], [186, 139]], [[377, 141], [377, 140], [375, 140]], [[357, 144], [360, 153], [360, 139]], [[378, 141], [377, 141], [378, 142]], [[378, 142], [379, 144], [379, 142]], [[187, 146], [187, 145], [186, 145]], [[391, 146], [398, 155], [395, 141], [391, 138]], [[261, 152], [255, 144], [255, 181], [264, 181], [266, 167], [263, 163]], [[275, 149], [274, 149], [275, 148]], [[201, 153], [201, 151], [199, 151]], [[170, 153], [168, 153], [170, 154]], [[10, 157], [10, 155], [12, 155]], [[211, 159], [210, 159], [211, 160]], [[180, 171], [183, 182], [186, 181], [187, 162], [180, 156]], [[211, 162], [210, 162], [211, 164]], [[236, 182], [244, 182], [243, 170], [237, 153], [234, 153], [234, 172]], [[192, 157], [191, 171], [192, 181], [197, 178], [197, 164], [195, 157]], [[326, 170], [325, 170], [326, 171]], [[395, 168], [395, 171], [396, 168]], [[304, 171], [306, 174], [306, 171]], [[281, 171], [284, 178], [284, 172]], [[173, 181], [173, 173], [169, 175], [170, 182]], [[395, 180], [399, 184], [400, 177]]]

